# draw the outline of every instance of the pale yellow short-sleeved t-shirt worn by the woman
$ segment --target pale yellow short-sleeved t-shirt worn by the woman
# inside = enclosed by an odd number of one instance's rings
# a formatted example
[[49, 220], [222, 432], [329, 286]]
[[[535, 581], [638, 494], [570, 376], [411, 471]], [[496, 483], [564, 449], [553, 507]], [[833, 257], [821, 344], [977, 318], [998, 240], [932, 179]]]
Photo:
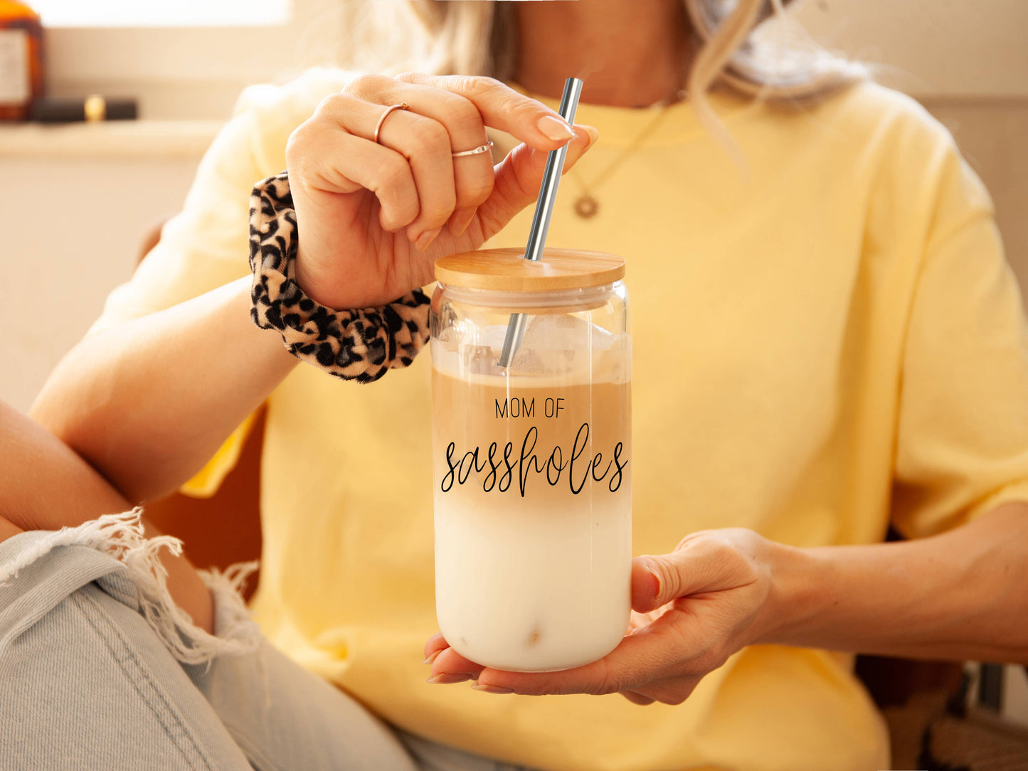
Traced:
[[[100, 326], [247, 272], [251, 186], [285, 168], [290, 131], [347, 77], [248, 90]], [[549, 231], [627, 259], [634, 553], [729, 525], [799, 546], [878, 542], [890, 521], [923, 537], [1028, 500], [1021, 301], [947, 132], [872, 83], [805, 109], [714, 105], [745, 169], [688, 105], [659, 118], [581, 105], [600, 141]], [[573, 212], [577, 179], [591, 219]], [[523, 245], [529, 219], [489, 246]], [[837, 653], [747, 649], [678, 706], [427, 685], [430, 399], [425, 355], [371, 386], [300, 366], [269, 398], [254, 609], [274, 645], [398, 726], [517, 764], [888, 767], [884, 725]], [[206, 484], [230, 463], [228, 449]]]

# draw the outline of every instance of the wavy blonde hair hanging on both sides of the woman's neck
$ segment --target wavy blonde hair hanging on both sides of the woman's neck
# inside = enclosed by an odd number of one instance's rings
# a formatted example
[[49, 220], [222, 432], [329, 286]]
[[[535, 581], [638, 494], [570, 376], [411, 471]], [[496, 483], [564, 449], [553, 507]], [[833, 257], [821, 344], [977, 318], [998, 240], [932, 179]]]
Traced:
[[[717, 123], [708, 90], [777, 103], [823, 99], [868, 76], [867, 69], [815, 45], [784, 11], [791, 0], [682, 0], [694, 37], [688, 73], [690, 102], [704, 121]], [[413, 15], [420, 24], [410, 24]], [[396, 74], [514, 76], [517, 24], [512, 2], [407, 0], [363, 3], [345, 25], [347, 65]], [[389, 41], [384, 48], [383, 40]], [[369, 44], [374, 41], [374, 44]], [[388, 49], [387, 49], [388, 48]]]

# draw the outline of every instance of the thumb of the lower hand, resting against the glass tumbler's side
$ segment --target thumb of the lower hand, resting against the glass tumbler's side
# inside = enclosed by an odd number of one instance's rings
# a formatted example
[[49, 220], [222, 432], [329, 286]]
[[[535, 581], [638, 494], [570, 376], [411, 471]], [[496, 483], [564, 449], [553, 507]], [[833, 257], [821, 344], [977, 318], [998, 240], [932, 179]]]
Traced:
[[670, 554], [645, 554], [632, 560], [632, 608], [655, 611], [700, 592], [732, 589], [738, 581], [726, 544], [714, 540], [690, 541]]

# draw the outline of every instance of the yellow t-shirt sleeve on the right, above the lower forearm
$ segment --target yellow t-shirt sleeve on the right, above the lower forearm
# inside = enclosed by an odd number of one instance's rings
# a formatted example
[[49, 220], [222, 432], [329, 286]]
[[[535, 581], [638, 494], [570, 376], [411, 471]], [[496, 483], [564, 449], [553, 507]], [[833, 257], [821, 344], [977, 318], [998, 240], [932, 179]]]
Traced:
[[1028, 501], [1028, 327], [992, 205], [946, 151], [902, 365], [892, 523], [918, 538]]

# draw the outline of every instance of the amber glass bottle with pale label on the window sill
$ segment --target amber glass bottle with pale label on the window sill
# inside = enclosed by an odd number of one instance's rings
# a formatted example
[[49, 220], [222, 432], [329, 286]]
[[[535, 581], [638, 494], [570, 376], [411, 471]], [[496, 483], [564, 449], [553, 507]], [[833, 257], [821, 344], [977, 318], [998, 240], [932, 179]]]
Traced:
[[19, 0], [0, 0], [0, 120], [25, 120], [43, 96], [43, 26]]

